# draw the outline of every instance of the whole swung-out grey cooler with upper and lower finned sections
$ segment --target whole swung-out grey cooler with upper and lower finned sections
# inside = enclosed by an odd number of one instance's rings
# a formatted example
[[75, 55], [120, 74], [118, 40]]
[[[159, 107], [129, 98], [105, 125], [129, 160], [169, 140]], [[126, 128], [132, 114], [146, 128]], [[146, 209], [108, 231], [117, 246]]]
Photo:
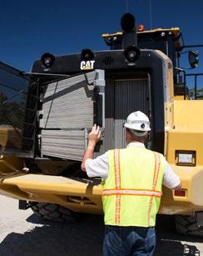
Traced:
[[[97, 107], [104, 109], [97, 104], [104, 98], [104, 85], [104, 71], [97, 70], [46, 86], [39, 135], [42, 157], [82, 160], [87, 135], [93, 123], [99, 124], [101, 119], [96, 114]], [[101, 114], [104, 116], [104, 111]]]

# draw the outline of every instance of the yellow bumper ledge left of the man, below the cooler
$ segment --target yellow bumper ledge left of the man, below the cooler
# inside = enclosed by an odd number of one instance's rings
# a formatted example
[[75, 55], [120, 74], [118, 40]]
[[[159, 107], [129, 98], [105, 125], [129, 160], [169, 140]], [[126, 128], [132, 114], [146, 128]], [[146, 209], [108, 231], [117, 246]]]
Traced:
[[6, 178], [0, 193], [21, 200], [57, 203], [82, 213], [102, 213], [100, 182], [43, 174]]

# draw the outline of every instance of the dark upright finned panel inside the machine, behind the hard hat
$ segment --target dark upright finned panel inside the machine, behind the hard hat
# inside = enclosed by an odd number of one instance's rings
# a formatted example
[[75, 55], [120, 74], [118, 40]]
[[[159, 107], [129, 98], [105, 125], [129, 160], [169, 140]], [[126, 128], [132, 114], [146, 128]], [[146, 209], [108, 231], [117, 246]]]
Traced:
[[126, 117], [140, 110], [149, 115], [149, 88], [145, 79], [119, 79], [115, 81], [115, 147], [125, 148]]

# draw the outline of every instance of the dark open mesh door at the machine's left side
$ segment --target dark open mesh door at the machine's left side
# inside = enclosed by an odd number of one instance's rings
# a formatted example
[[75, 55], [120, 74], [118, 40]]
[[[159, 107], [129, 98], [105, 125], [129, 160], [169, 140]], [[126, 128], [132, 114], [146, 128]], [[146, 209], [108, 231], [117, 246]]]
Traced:
[[[0, 63], [0, 151], [1, 153], [23, 154], [23, 131], [25, 124], [33, 124], [33, 112], [36, 108], [36, 98], [32, 101], [31, 114], [25, 118], [27, 109], [27, 92], [31, 87], [37, 87], [35, 81], [16, 68]], [[34, 103], [33, 103], [34, 102]], [[34, 111], [32, 111], [34, 110]], [[31, 130], [34, 127], [32, 126]], [[31, 150], [32, 148], [29, 148]]]

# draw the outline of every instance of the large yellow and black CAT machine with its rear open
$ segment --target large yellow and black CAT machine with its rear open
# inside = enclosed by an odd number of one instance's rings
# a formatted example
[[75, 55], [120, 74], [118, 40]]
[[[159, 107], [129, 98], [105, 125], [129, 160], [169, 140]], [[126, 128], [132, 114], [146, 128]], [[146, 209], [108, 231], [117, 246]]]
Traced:
[[[95, 157], [124, 148], [122, 123], [141, 110], [151, 118], [147, 148], [163, 153], [181, 190], [163, 188], [160, 213], [182, 233], [203, 235], [201, 73], [180, 68], [179, 28], [145, 31], [126, 13], [121, 33], [104, 34], [110, 50], [44, 53], [31, 73], [0, 63], [0, 193], [48, 219], [102, 213], [100, 178], [81, 171], [93, 123], [102, 127]], [[195, 46], [190, 46], [195, 47]], [[191, 68], [198, 53], [189, 51]], [[194, 76], [195, 88], [186, 78]]]

